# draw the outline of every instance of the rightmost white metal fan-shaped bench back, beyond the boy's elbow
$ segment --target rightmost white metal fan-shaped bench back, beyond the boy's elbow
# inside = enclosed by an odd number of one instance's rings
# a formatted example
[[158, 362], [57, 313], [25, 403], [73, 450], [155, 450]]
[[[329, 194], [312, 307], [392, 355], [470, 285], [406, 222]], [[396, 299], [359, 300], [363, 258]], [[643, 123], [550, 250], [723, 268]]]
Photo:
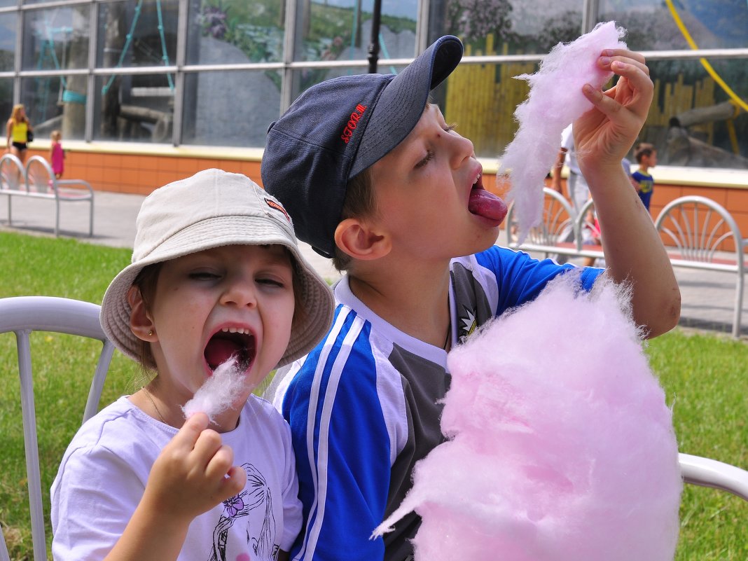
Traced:
[[741, 330], [745, 283], [745, 242], [735, 218], [714, 200], [690, 195], [668, 203], [654, 227], [663, 242], [675, 250], [670, 263], [689, 269], [708, 269], [735, 274], [735, 310], [732, 336]]

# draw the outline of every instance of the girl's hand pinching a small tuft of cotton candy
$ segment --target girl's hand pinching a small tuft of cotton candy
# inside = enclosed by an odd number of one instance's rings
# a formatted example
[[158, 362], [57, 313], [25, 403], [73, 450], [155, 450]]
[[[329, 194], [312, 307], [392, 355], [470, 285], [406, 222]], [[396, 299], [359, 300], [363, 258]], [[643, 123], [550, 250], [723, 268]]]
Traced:
[[206, 414], [189, 417], [153, 462], [141, 507], [190, 522], [242, 491], [247, 477], [233, 450], [207, 428]]

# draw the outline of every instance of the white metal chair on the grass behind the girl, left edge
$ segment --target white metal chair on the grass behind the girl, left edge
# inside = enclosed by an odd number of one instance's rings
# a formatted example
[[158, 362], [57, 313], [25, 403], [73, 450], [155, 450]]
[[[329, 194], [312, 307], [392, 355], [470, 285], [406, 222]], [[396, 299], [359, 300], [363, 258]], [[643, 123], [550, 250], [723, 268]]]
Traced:
[[[0, 334], [16, 334], [18, 372], [21, 387], [23, 440], [28, 478], [28, 500], [31, 506], [31, 535], [34, 561], [46, 560], [46, 539], [42, 509], [42, 488], [37, 444], [37, 422], [34, 409], [34, 384], [31, 373], [31, 331], [52, 331], [90, 337], [103, 343], [96, 371], [88, 393], [83, 421], [96, 414], [114, 345], [107, 339], [99, 323], [99, 306], [69, 298], [52, 296], [16, 296], [0, 298]], [[10, 369], [9, 369], [10, 371]], [[4, 537], [0, 532], [0, 561], [9, 561]]]

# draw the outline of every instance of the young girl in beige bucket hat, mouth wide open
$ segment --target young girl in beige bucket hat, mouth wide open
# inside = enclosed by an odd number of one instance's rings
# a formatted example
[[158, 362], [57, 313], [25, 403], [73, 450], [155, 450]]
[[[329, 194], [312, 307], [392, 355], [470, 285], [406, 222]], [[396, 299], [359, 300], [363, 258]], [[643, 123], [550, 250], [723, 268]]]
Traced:
[[[331, 290], [281, 203], [242, 175], [159, 188], [136, 224], [101, 322], [156, 375], [68, 447], [52, 485], [55, 560], [284, 559], [301, 528], [290, 432], [251, 392], [322, 338]], [[226, 406], [185, 420], [221, 364], [236, 386]]]

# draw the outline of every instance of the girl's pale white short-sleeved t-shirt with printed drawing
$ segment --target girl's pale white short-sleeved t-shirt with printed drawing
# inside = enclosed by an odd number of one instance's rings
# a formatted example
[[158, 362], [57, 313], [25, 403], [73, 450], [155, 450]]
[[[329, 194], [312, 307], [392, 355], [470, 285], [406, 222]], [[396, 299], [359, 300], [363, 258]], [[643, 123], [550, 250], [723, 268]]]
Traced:
[[[176, 434], [126, 396], [79, 429], [52, 484], [55, 561], [108, 554], [141, 500], [153, 462]], [[269, 402], [251, 396], [239, 425], [221, 438], [247, 472], [247, 485], [192, 521], [178, 559], [275, 560], [301, 530], [289, 426]]]

